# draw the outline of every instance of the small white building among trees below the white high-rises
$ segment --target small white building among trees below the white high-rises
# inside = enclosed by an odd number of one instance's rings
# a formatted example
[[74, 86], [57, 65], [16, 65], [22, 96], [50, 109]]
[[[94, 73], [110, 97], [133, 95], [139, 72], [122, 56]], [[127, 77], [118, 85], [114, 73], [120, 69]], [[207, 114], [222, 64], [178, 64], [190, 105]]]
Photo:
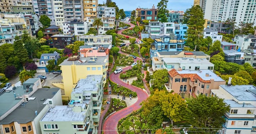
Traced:
[[213, 28], [205, 28], [204, 29], [204, 38], [207, 38], [208, 36], [211, 37], [212, 42], [214, 41], [222, 41], [222, 35], [218, 35], [218, 30]]

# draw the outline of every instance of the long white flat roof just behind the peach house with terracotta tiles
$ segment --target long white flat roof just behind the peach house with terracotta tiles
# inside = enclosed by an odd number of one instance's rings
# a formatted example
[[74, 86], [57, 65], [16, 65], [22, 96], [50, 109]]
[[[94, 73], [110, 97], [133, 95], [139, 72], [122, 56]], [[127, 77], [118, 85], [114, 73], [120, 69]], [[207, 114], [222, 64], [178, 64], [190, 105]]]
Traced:
[[194, 58], [162, 58], [166, 64], [169, 63], [179, 63], [179, 64], [212, 64], [209, 60], [206, 59], [194, 59]]

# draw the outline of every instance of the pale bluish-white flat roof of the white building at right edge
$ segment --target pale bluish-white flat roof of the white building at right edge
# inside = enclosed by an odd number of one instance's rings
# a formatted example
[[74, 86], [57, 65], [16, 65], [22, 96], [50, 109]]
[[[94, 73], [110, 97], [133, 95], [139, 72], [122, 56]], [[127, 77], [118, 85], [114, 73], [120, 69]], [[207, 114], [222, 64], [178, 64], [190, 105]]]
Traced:
[[234, 96], [238, 101], [256, 101], [256, 87], [254, 85], [219, 86]]

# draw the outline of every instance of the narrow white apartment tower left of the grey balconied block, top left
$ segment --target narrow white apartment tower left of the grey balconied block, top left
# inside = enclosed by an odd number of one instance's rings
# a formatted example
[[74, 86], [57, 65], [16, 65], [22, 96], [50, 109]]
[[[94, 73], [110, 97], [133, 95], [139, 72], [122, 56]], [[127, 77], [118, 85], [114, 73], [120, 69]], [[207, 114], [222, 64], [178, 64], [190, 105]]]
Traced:
[[64, 23], [64, 7], [63, 0], [53, 0], [54, 12], [55, 12], [55, 25], [62, 28], [62, 23]]

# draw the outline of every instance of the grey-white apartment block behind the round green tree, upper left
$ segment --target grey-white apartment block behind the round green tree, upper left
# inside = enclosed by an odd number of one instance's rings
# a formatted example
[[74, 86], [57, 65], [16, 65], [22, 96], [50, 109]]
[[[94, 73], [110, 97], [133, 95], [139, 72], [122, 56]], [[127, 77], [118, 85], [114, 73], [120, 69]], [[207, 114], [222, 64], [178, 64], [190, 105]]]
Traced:
[[[55, 25], [54, 6], [51, 0], [33, 0], [32, 2], [34, 12], [38, 15], [38, 18], [40, 18], [41, 15], [46, 15], [51, 20], [50, 25]], [[39, 24], [40, 26], [43, 26], [41, 23]]]

